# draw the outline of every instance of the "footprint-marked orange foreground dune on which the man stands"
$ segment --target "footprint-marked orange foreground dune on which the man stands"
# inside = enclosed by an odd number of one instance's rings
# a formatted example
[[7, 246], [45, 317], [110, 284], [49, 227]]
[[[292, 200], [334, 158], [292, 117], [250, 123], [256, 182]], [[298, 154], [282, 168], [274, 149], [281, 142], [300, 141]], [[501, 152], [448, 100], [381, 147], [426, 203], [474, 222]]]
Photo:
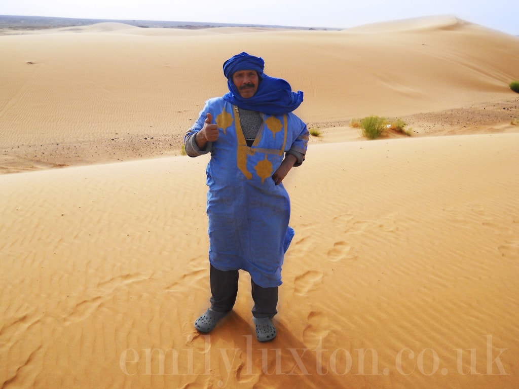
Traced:
[[[205, 161], [4, 175], [5, 387], [513, 387], [519, 175], [503, 166], [516, 166], [517, 140], [314, 145], [286, 183], [297, 234], [283, 270], [279, 336], [268, 346], [250, 338], [246, 274], [224, 324], [210, 337], [193, 329], [208, 298]], [[500, 355], [493, 376], [484, 336], [493, 359]], [[179, 359], [170, 351], [160, 375], [158, 350], [168, 349]], [[368, 349], [378, 375], [369, 354], [360, 370], [358, 350]], [[470, 370], [470, 355], [458, 366], [455, 349], [475, 349], [481, 375], [459, 373]]]

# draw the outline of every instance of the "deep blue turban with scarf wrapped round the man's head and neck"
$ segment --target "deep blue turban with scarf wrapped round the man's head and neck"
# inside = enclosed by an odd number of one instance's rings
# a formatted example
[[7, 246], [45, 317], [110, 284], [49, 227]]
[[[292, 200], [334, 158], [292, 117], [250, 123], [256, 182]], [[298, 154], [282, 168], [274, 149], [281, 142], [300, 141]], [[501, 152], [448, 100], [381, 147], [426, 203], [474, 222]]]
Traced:
[[[292, 92], [292, 87], [281, 78], [269, 77], [263, 73], [265, 61], [245, 52], [236, 54], [224, 62], [223, 70], [227, 78], [229, 92], [223, 98], [239, 108], [263, 112], [267, 115], [284, 115], [292, 112], [303, 102], [303, 92]], [[260, 84], [254, 96], [243, 99], [233, 82], [233, 74], [240, 70], [254, 70]]]

